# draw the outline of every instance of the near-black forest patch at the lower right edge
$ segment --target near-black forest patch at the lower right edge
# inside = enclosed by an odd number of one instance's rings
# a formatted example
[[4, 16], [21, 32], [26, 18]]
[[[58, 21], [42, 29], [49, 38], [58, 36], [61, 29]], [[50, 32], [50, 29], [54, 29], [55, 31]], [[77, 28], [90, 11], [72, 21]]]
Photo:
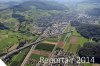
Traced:
[[95, 63], [100, 63], [100, 43], [88, 42], [85, 43], [78, 51], [80, 57], [94, 57]]

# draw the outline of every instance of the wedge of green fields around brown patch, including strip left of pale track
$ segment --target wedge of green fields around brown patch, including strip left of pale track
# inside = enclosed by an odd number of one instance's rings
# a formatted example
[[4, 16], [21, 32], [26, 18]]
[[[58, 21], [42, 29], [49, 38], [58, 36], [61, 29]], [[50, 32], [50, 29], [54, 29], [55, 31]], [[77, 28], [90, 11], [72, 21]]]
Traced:
[[[67, 34], [68, 35], [68, 34]], [[75, 27], [71, 26], [71, 34], [69, 34], [69, 37], [66, 37], [67, 35], [62, 36], [65, 42], [65, 45], [63, 49], [65, 51], [70, 51], [73, 53], [76, 53], [78, 48], [83, 46], [85, 42], [88, 42], [89, 40], [81, 36], [75, 29]]]

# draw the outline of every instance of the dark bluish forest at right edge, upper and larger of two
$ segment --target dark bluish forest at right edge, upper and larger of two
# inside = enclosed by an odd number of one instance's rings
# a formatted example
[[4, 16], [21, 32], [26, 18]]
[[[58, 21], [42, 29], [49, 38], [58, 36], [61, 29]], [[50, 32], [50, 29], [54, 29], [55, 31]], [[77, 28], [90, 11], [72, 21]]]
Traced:
[[93, 39], [96, 42], [100, 41], [100, 25], [95, 24], [83, 24], [77, 21], [72, 22], [72, 26], [75, 26], [77, 31], [88, 39]]

